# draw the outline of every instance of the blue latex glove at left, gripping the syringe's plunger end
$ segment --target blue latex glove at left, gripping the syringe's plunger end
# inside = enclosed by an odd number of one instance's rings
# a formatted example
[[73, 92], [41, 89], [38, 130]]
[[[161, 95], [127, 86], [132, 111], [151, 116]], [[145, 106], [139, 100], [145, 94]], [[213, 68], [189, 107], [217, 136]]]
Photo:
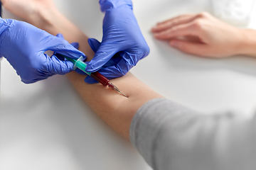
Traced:
[[85, 55], [66, 40], [29, 23], [0, 18], [0, 56], [6, 57], [26, 84], [73, 70], [73, 63], [44, 54], [47, 50], [78, 59]]

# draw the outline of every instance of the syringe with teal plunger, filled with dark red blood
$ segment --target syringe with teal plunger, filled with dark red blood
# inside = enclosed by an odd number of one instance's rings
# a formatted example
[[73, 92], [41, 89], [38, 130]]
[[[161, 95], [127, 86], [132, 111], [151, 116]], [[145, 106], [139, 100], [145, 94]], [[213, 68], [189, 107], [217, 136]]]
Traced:
[[100, 84], [102, 84], [103, 86], [109, 86], [111, 89], [118, 91], [120, 94], [122, 94], [124, 97], [128, 98], [125, 94], [123, 94], [121, 91], [119, 91], [119, 89], [117, 88], [117, 86], [114, 86], [114, 84], [110, 83], [110, 80], [107, 79], [106, 77], [104, 77], [102, 74], [100, 74], [99, 72], [86, 72], [85, 68], [87, 66], [87, 64], [85, 64], [85, 62], [82, 62], [83, 57], [79, 57], [78, 60], [75, 59], [71, 59], [70, 57], [66, 57], [65, 55], [61, 55], [63, 57], [65, 57], [67, 60], [69, 60], [70, 62], [73, 62], [74, 67], [73, 69], [80, 69], [82, 70], [82, 72], [85, 72], [87, 75], [89, 75], [90, 77], [92, 77], [93, 79], [97, 80], [100, 82]]

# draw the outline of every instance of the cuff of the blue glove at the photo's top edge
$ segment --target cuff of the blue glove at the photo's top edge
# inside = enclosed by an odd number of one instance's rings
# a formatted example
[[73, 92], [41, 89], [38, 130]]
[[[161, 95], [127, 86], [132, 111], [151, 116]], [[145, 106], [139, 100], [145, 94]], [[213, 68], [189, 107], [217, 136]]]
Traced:
[[100, 0], [100, 10], [102, 12], [110, 11], [112, 8], [119, 8], [120, 6], [129, 6], [132, 9], [131, 0]]

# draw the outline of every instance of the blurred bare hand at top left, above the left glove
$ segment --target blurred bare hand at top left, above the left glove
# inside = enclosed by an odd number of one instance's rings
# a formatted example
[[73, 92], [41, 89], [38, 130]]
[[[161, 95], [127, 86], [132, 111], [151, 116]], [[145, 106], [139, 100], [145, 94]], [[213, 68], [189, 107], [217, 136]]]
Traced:
[[1, 0], [1, 2], [6, 10], [33, 25], [43, 22], [41, 13], [55, 10], [53, 0]]

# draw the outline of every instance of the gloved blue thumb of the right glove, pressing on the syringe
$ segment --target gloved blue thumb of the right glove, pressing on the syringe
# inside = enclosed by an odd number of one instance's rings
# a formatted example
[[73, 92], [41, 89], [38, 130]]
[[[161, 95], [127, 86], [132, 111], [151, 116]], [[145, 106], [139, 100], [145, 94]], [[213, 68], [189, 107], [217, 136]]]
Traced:
[[110, 43], [102, 42], [93, 59], [90, 60], [90, 62], [87, 64], [85, 71], [96, 72], [104, 64], [106, 64], [116, 53], [117, 51], [114, 49], [113, 45], [111, 45]]

